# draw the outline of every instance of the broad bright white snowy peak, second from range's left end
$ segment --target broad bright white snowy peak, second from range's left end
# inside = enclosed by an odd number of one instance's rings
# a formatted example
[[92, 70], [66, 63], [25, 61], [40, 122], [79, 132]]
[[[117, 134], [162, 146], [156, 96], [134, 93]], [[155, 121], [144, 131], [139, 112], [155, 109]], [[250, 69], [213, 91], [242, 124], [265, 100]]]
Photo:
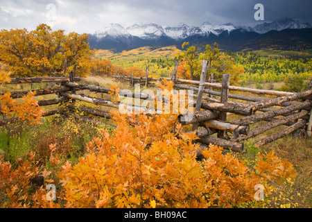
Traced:
[[156, 39], [166, 35], [162, 26], [153, 23], [132, 24], [132, 26], [127, 28], [127, 31], [130, 35], [140, 37], [141, 39]]

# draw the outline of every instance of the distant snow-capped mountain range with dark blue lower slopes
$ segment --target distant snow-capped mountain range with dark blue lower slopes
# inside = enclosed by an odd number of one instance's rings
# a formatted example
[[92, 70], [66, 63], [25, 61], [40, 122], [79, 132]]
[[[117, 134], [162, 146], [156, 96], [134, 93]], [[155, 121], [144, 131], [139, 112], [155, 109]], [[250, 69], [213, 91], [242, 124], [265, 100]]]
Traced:
[[180, 48], [183, 42], [205, 46], [217, 42], [220, 49], [241, 51], [243, 49], [272, 48], [280, 50], [312, 49], [312, 26], [293, 19], [280, 19], [257, 26], [234, 26], [231, 23], [201, 26], [162, 27], [153, 23], [136, 23], [124, 28], [110, 24], [94, 34], [89, 34], [92, 49], [123, 51], [141, 46], [171, 46]]

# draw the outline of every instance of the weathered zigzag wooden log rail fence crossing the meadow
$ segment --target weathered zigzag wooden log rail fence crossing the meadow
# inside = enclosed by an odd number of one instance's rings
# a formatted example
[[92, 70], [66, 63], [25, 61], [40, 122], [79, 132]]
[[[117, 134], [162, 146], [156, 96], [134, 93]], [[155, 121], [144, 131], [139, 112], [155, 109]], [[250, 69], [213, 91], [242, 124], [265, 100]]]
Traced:
[[[207, 146], [210, 143], [217, 144], [218, 146], [223, 146], [225, 149], [241, 153], [244, 151], [243, 142], [245, 140], [282, 125], [284, 125], [285, 128], [280, 130], [279, 133], [264, 137], [254, 142], [254, 145], [263, 146], [276, 139], [290, 135], [296, 130], [300, 130], [304, 132], [307, 137], [311, 137], [311, 86], [304, 92], [298, 93], [236, 87], [229, 85], [230, 74], [223, 75], [222, 83], [207, 83], [205, 81], [207, 75], [206, 63], [207, 61], [204, 60], [199, 81], [176, 78], [176, 71], [173, 72], [171, 78], [167, 78], [173, 80], [175, 89], [192, 89], [193, 92], [197, 92], [197, 94], [194, 95], [196, 101], [194, 100], [193, 103], [189, 104], [195, 107], [195, 111], [192, 113], [180, 114], [177, 119], [182, 125], [191, 124], [193, 126], [192, 130], [196, 130], [196, 135], [200, 138], [196, 142], [202, 144], [202, 146]], [[148, 78], [148, 74], [146, 74], [145, 78], [135, 78], [133, 76], [114, 76], [114, 78], [121, 81], [128, 81], [132, 86], [140, 84], [147, 87], [155, 85], [155, 81], [157, 80], [161, 81], [164, 79]], [[60, 83], [58, 87], [35, 90], [37, 92], [36, 96], [58, 94], [58, 98], [56, 99], [38, 101], [40, 106], [55, 105], [71, 99], [96, 105], [104, 105], [110, 108], [119, 108], [119, 103], [78, 94], [77, 92], [80, 90], [89, 90], [89, 92], [102, 94], [108, 94], [110, 92], [110, 89], [106, 87], [74, 83], [79, 80], [80, 78], [66, 77], [12, 78], [10, 84]], [[205, 89], [205, 87], [207, 88]], [[12, 92], [11, 94], [13, 98], [19, 98], [28, 92], [29, 91]], [[249, 92], [262, 96], [243, 96], [241, 94], [235, 94], [234, 92]], [[131, 94], [127, 94], [127, 96], [139, 99], [151, 99], [148, 94], [140, 92], [131, 92]], [[164, 98], [160, 96], [159, 98], [157, 97], [157, 99]], [[232, 101], [229, 99], [232, 99]], [[69, 103], [67, 108], [73, 110], [77, 107], [74, 103]], [[128, 106], [127, 108], [130, 110], [141, 109], [139, 106], [135, 105]], [[97, 108], [83, 106], [79, 109], [86, 114], [96, 117], [111, 118], [109, 112]], [[46, 117], [56, 113], [62, 113], [62, 110], [51, 110], [45, 112], [43, 116]], [[236, 119], [228, 121], [228, 114], [237, 114], [235, 116]], [[74, 112], [66, 112], [66, 115], [71, 115], [83, 121], [98, 123], [98, 121], [90, 117], [76, 115]], [[257, 123], [257, 127], [250, 128], [254, 123]], [[0, 121], [0, 126], [1, 125], [3, 125], [3, 123]]]

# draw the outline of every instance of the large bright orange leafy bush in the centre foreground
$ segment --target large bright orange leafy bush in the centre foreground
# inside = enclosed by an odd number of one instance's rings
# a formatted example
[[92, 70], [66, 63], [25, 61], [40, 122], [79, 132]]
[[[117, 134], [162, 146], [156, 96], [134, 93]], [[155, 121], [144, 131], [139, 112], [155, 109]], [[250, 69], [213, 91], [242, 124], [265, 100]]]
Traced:
[[270, 182], [295, 176], [293, 166], [274, 153], [259, 155], [250, 169], [211, 144], [199, 162], [195, 134], [182, 133], [180, 125], [173, 130], [176, 119], [168, 117], [115, 112], [114, 133], [103, 130], [87, 144], [85, 157], [66, 162], [58, 174], [66, 206], [234, 207], [254, 200], [255, 185], [269, 191]]

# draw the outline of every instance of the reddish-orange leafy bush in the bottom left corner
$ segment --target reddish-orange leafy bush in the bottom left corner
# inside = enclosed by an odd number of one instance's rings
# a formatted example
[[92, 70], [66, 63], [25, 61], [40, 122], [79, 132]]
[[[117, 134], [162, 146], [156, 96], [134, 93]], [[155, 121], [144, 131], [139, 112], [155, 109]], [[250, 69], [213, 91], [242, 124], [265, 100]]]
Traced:
[[[35, 160], [35, 153], [28, 153], [27, 160], [17, 160], [17, 167], [12, 168], [9, 162], [3, 162], [0, 157], [0, 207], [8, 208], [54, 208], [58, 203], [46, 198], [45, 187], [32, 191], [30, 180], [36, 176], [44, 176], [46, 182], [51, 171], [47, 171]], [[5, 201], [1, 198], [4, 197]]]

